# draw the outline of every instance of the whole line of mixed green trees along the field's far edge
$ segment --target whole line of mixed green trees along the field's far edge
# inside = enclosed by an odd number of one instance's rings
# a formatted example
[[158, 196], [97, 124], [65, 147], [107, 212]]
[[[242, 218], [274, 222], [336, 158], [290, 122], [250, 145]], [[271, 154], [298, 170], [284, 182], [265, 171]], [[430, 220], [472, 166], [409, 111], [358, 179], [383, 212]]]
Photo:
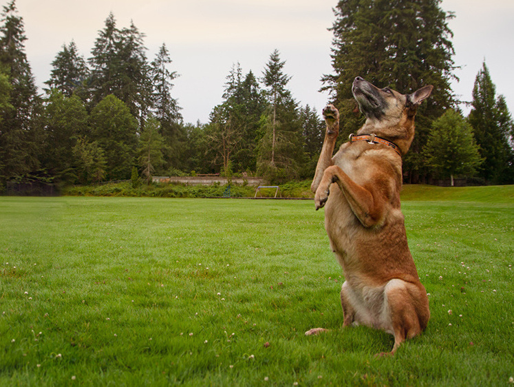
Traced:
[[[416, 118], [404, 160], [407, 182], [477, 176], [514, 182], [513, 120], [484, 63], [464, 117], [453, 96], [453, 46], [439, 0], [341, 0], [332, 25], [333, 74], [323, 76], [341, 112], [341, 136], [362, 124], [350, 84], [363, 76], [410, 92], [434, 85]], [[179, 76], [163, 43], [147, 58], [144, 34], [118, 28], [114, 14], [85, 59], [65, 44], [40, 95], [25, 54], [15, 0], [0, 25], [0, 188], [9, 181], [90, 184], [152, 175], [233, 173], [273, 182], [311, 178], [324, 124], [288, 89], [291, 76], [273, 51], [261, 74], [228, 70], [222, 103], [208, 123], [184, 123], [173, 82]]]

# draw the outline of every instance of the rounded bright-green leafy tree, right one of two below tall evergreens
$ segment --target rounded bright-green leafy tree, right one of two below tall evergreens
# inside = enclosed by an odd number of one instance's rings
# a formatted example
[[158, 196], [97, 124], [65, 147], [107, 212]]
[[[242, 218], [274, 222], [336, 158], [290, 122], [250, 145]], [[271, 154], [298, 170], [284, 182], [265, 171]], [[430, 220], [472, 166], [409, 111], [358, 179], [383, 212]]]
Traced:
[[103, 149], [109, 180], [128, 179], [136, 156], [138, 122], [130, 110], [109, 95], [94, 107], [90, 116], [91, 139]]

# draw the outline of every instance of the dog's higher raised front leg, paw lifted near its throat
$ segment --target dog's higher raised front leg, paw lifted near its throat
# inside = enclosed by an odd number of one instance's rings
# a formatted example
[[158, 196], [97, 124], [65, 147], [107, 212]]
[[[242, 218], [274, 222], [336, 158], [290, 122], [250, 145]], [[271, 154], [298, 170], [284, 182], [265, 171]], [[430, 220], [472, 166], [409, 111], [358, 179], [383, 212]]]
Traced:
[[312, 192], [316, 192], [318, 189], [325, 169], [333, 165], [332, 154], [334, 154], [336, 139], [339, 135], [339, 111], [334, 105], [328, 105], [323, 109], [323, 117], [325, 117], [325, 123], [327, 124], [327, 132], [325, 132], [323, 148], [321, 149], [321, 154], [319, 155], [318, 164], [316, 166], [316, 174], [314, 174], [314, 179], [310, 186]]

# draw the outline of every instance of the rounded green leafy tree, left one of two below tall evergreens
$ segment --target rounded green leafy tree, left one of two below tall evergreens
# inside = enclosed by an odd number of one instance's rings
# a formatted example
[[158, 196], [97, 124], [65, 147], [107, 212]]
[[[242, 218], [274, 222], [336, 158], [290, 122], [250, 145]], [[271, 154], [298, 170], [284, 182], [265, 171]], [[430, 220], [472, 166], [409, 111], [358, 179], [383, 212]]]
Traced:
[[54, 89], [47, 98], [43, 122], [42, 167], [57, 180], [74, 182], [73, 148], [78, 136], [87, 132], [87, 112], [83, 102], [76, 95], [67, 97]]

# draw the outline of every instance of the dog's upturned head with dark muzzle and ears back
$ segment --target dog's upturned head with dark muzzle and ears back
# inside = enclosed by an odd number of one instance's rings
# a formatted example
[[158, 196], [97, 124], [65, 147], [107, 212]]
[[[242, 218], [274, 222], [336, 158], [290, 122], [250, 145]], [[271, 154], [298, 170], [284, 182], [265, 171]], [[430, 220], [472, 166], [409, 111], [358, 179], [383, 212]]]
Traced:
[[379, 89], [360, 76], [354, 79], [352, 93], [366, 117], [358, 134], [375, 134], [396, 143], [407, 153], [414, 138], [414, 116], [418, 106], [432, 92], [433, 86], [421, 87], [412, 94], [401, 94], [389, 87]]

